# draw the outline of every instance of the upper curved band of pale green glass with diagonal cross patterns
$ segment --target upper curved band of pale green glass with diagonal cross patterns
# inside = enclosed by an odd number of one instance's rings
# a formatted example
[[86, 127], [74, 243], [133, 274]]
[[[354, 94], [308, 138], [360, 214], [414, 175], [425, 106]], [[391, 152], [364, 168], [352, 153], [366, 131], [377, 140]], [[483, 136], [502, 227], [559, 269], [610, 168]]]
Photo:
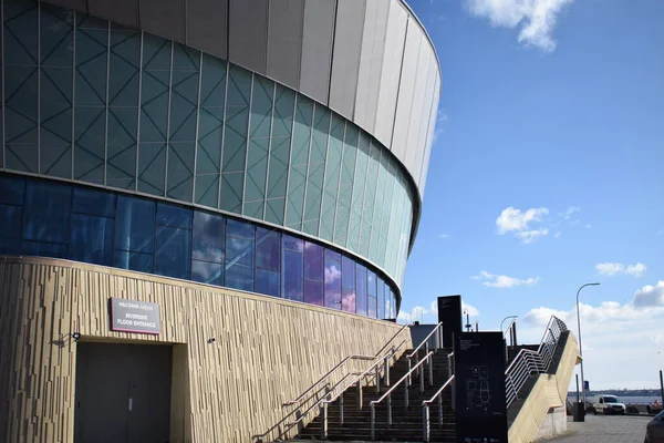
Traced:
[[[304, 95], [180, 43], [29, 0], [2, 8], [0, 168], [288, 227], [357, 254], [401, 285], [414, 185], [370, 134]], [[136, 205], [132, 214], [149, 215], [148, 203]], [[174, 238], [186, 229], [163, 227], [176, 229]], [[246, 240], [230, 233], [227, 239]], [[126, 241], [115, 245], [113, 262], [149, 267], [151, 245]], [[242, 280], [242, 266], [255, 258], [232, 258], [224, 279]], [[199, 261], [191, 275], [212, 272]], [[163, 265], [155, 258], [152, 266], [158, 272]], [[269, 269], [260, 270], [260, 285], [272, 281]], [[307, 281], [320, 281], [304, 277], [307, 293]]]

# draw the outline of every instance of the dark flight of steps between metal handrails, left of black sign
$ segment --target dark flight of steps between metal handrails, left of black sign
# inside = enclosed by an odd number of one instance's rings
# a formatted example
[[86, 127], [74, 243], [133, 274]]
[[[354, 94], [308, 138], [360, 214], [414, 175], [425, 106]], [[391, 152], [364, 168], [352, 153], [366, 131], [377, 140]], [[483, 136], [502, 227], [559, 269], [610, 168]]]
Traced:
[[[359, 391], [352, 387], [343, 394], [343, 424], [341, 424], [340, 400], [328, 408], [328, 440], [329, 441], [371, 441], [371, 408], [370, 403], [380, 399], [394, 387], [407, 372], [408, 362], [406, 351], [390, 370], [391, 387], [381, 383], [380, 392], [375, 384], [364, 387], [362, 390], [362, 408], [357, 404]], [[387, 399], [375, 406], [375, 441], [384, 442], [422, 442], [423, 441], [423, 408], [422, 402], [430, 399], [438, 389], [449, 379], [448, 354], [450, 350], [439, 349], [433, 356], [433, 384], [428, 381], [428, 367], [423, 364], [425, 390], [421, 392], [419, 378], [413, 373], [413, 382], [408, 388], [409, 405], [405, 405], [405, 382], [402, 382], [392, 392], [392, 424], [387, 424]], [[419, 358], [425, 356], [419, 352]], [[413, 365], [415, 364], [415, 359]], [[452, 389], [447, 388], [443, 394], [443, 424], [438, 426], [438, 401], [430, 405], [430, 440], [432, 442], [455, 441], [455, 416], [452, 410]], [[321, 426], [323, 420], [319, 415], [298, 436], [298, 441], [322, 440]]]

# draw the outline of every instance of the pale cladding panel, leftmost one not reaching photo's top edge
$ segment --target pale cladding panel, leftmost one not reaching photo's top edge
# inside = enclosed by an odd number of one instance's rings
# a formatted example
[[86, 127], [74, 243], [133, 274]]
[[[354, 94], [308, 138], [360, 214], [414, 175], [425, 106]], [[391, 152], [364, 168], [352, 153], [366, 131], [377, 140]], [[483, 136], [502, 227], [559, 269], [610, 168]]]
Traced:
[[423, 35], [412, 18], [408, 18], [408, 32], [406, 33], [406, 48], [404, 50], [404, 64], [398, 84], [398, 101], [394, 117], [394, 136], [392, 137], [392, 152], [396, 158], [404, 163], [408, 144], [408, 127], [413, 107], [413, 93], [417, 79], [417, 62]]

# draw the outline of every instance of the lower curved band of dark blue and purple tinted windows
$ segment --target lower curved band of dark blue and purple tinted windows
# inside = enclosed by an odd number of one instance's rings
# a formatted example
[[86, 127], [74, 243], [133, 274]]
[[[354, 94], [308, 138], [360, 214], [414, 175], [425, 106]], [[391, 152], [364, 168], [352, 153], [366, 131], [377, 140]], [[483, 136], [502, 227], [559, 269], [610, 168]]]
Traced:
[[0, 254], [66, 258], [396, 317], [386, 280], [338, 250], [215, 213], [48, 179], [0, 174]]

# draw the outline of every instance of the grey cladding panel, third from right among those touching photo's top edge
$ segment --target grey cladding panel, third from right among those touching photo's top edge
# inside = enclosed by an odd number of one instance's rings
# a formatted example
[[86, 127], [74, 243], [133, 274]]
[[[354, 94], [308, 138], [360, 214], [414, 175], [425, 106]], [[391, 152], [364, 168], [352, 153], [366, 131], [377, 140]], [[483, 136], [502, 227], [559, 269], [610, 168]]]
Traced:
[[353, 119], [364, 30], [365, 0], [339, 0], [332, 53], [330, 107]]

